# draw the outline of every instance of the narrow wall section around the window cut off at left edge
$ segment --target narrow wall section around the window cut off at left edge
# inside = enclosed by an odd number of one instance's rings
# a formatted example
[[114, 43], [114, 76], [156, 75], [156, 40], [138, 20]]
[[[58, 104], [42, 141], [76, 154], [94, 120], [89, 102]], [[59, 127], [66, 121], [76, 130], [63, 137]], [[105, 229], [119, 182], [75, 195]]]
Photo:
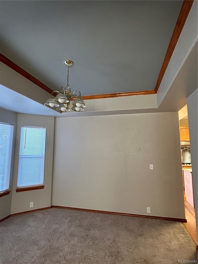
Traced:
[[10, 215], [11, 212], [11, 198], [12, 198], [12, 179], [13, 179], [13, 167], [14, 167], [14, 155], [15, 155], [15, 138], [16, 138], [16, 124], [17, 113], [4, 110], [0, 108], [0, 122], [13, 124], [14, 133], [12, 141], [12, 157], [11, 157], [11, 171], [10, 171], [10, 194], [0, 197], [0, 219]]

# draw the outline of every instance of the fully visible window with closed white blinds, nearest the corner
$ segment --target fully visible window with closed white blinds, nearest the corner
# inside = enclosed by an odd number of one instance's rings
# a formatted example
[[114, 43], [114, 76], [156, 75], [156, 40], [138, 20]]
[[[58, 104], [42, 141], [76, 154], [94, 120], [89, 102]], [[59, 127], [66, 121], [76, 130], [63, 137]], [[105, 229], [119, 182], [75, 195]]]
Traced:
[[46, 128], [21, 127], [17, 188], [43, 184]]

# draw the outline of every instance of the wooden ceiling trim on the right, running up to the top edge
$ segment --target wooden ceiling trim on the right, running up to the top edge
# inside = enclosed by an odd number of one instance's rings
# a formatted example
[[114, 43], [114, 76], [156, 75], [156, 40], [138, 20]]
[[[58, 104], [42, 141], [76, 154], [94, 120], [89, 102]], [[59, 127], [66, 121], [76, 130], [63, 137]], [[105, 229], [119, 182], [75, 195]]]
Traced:
[[180, 10], [180, 13], [179, 13], [179, 16], [178, 16], [178, 19], [177, 19], [177, 22], [176, 22], [176, 25], [175, 25], [175, 28], [173, 31], [173, 34], [172, 34], [171, 39], [170, 39], [170, 43], [168, 45], [168, 49], [166, 51], [164, 61], [163, 61], [162, 66], [161, 66], [161, 70], [160, 70], [160, 73], [159, 73], [159, 76], [157, 79], [157, 83], [155, 85], [155, 92], [156, 93], [157, 93], [159, 86], [161, 84], [161, 80], [164, 77], [166, 68], [168, 67], [168, 64], [170, 62], [170, 58], [173, 54], [174, 48], [175, 48], [177, 41], [179, 39], [179, 36], [182, 32], [183, 26], [186, 22], [187, 16], [191, 10], [193, 2], [194, 2], [194, 0], [184, 0], [183, 1], [181, 10]]

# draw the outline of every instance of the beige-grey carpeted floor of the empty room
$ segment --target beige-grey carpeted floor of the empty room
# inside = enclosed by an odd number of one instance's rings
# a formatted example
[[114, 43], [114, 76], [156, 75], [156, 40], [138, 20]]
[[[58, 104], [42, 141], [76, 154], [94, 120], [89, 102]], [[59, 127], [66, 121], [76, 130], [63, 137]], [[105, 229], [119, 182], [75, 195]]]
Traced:
[[0, 223], [1, 264], [172, 264], [197, 260], [179, 222], [52, 208]]

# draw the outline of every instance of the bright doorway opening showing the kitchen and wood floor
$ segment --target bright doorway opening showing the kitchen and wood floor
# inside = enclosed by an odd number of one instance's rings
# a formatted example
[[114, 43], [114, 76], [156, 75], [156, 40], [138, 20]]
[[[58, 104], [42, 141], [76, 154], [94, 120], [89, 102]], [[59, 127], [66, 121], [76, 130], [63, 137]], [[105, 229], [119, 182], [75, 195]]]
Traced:
[[195, 205], [193, 197], [193, 182], [192, 182], [192, 164], [190, 152], [190, 136], [188, 129], [188, 114], [187, 105], [179, 111], [179, 131], [181, 141], [181, 157], [182, 157], [182, 177], [183, 177], [183, 194], [185, 215], [187, 223], [183, 223], [187, 232], [190, 234], [195, 244], [197, 245], [197, 230]]

